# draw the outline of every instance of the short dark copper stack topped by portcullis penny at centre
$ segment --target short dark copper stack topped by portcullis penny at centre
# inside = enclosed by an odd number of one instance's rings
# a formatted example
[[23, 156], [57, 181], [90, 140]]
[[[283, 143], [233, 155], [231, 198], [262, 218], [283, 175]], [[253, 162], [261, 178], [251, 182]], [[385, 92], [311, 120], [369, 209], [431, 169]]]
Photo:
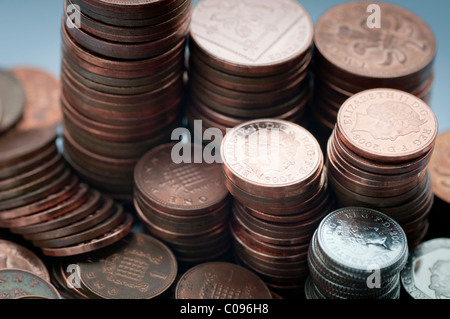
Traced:
[[[177, 144], [148, 151], [135, 169], [134, 203], [145, 230], [163, 240], [181, 267], [229, 255], [230, 195], [219, 163], [195, 162], [203, 147], [180, 158]], [[191, 148], [189, 146], [188, 148]], [[175, 158], [176, 157], [176, 158]]]

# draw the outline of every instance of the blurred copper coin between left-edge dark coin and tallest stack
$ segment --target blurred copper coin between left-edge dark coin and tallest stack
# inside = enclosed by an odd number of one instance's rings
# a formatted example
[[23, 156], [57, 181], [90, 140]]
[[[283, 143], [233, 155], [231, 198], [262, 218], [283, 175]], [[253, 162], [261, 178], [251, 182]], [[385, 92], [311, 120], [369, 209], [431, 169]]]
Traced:
[[24, 113], [16, 128], [56, 127], [62, 118], [59, 80], [45, 70], [30, 67], [17, 67], [11, 72], [22, 83], [26, 95]]

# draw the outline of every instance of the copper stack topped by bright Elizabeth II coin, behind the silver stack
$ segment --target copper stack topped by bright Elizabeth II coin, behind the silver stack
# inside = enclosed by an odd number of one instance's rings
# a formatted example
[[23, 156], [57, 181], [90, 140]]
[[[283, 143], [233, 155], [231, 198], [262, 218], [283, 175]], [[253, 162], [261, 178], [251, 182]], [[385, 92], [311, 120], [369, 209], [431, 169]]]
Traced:
[[372, 89], [348, 99], [339, 110], [326, 162], [339, 205], [385, 213], [416, 246], [426, 235], [433, 206], [427, 165], [437, 131], [433, 111], [412, 94]]

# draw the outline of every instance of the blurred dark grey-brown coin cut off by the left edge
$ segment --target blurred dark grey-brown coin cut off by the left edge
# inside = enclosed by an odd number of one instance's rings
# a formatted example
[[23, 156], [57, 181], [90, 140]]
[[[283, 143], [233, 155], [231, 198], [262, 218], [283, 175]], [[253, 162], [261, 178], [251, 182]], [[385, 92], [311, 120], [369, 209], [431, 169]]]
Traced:
[[19, 122], [26, 103], [24, 87], [15, 75], [6, 70], [0, 70], [0, 100], [3, 111], [0, 133], [4, 133]]

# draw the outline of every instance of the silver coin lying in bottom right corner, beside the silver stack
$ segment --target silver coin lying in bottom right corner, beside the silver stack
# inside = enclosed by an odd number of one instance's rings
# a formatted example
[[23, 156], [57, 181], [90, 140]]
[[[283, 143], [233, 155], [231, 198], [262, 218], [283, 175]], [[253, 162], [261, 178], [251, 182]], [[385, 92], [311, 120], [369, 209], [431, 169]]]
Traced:
[[414, 299], [450, 299], [449, 274], [450, 239], [434, 238], [410, 252], [401, 282]]

